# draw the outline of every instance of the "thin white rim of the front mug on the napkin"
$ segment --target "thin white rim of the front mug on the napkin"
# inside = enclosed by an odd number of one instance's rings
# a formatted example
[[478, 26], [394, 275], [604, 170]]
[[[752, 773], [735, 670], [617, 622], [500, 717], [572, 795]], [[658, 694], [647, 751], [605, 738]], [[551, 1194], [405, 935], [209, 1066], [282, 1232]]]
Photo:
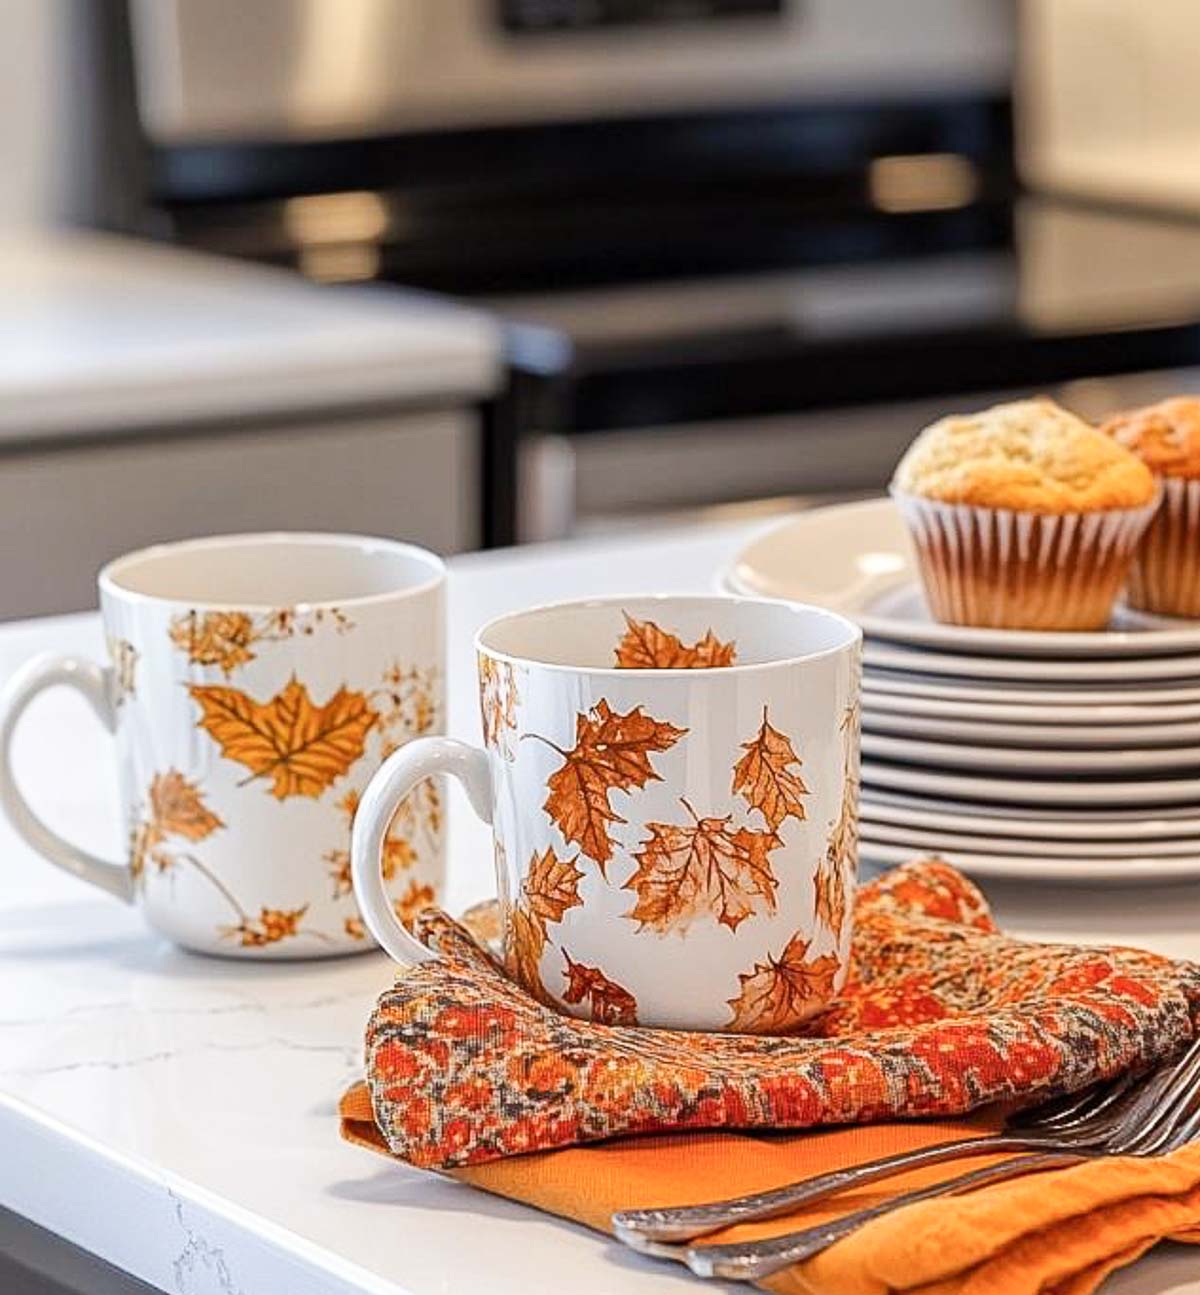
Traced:
[[[769, 606], [769, 607], [786, 607], [788, 611], [796, 615], [809, 615], [814, 614], [821, 619], [831, 620], [847, 631], [847, 637], [843, 642], [835, 644], [832, 648], [821, 648], [814, 651], [808, 653], [794, 653], [787, 657], [778, 657], [773, 660], [760, 660], [760, 662], [743, 662], [740, 664], [735, 663], [733, 666], [566, 666], [562, 662], [540, 660], [536, 657], [520, 655], [517, 653], [500, 651], [494, 648], [489, 648], [484, 638], [488, 633], [498, 629], [501, 625], [510, 624], [517, 620], [523, 620], [527, 616], [536, 616], [548, 611], [564, 611], [571, 607], [585, 609], [585, 607], [621, 607], [623, 603], [630, 602], [707, 602], [720, 606]], [[624, 610], [621, 607], [621, 610]], [[645, 676], [649, 679], [671, 679], [671, 677], [687, 677], [687, 679], [706, 679], [711, 676], [729, 677], [734, 675], [751, 673], [753, 671], [766, 671], [766, 670], [786, 670], [792, 666], [809, 664], [810, 662], [825, 660], [830, 657], [836, 657], [839, 653], [844, 653], [848, 649], [853, 649], [856, 645], [862, 644], [862, 627], [856, 622], [850, 620], [849, 616], [844, 616], [840, 611], [834, 611], [830, 607], [821, 607], [814, 602], [797, 602], [792, 598], [759, 598], [750, 597], [746, 594], [737, 593], [625, 593], [625, 594], [597, 594], [595, 597], [584, 598], [558, 598], [553, 602], [540, 602], [532, 607], [520, 607], [517, 611], [506, 611], [502, 615], [493, 616], [485, 624], [475, 632], [475, 653], [491, 657], [493, 660], [504, 662], [509, 666], [527, 666], [536, 667], [537, 670], [549, 670], [557, 673], [564, 675], [595, 675], [601, 677], [620, 677], [630, 679], [637, 676]]]

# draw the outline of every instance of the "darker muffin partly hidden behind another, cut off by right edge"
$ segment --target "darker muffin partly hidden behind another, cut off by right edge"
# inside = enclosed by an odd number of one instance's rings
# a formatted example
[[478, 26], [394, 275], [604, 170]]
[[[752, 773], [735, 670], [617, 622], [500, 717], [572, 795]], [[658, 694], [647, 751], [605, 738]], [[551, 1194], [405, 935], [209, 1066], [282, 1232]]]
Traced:
[[1162, 502], [1129, 572], [1131, 606], [1200, 616], [1200, 396], [1175, 396], [1104, 423], [1159, 479]]

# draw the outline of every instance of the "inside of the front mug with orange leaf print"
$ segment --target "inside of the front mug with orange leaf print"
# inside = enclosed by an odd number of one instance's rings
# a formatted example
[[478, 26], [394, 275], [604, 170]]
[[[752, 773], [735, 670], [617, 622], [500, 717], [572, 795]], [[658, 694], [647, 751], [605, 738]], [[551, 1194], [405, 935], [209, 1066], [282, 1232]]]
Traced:
[[[590, 598], [501, 616], [479, 632], [478, 646], [492, 657], [564, 670], [630, 668], [628, 662], [643, 653], [628, 635], [647, 638], [646, 627], [674, 636], [681, 650], [667, 646], [656, 653], [660, 660], [707, 660], [713, 651], [690, 651], [706, 641], [717, 640], [720, 664], [702, 668], [738, 670], [781, 662], [810, 659], [840, 651], [861, 637], [856, 624], [822, 607], [797, 602], [770, 602], [759, 598], [633, 596]], [[625, 641], [627, 648], [619, 653]], [[711, 640], [708, 640], [711, 644]], [[731, 651], [729, 650], [731, 645]], [[681, 655], [682, 654], [682, 655]], [[669, 664], [632, 668], [671, 670]], [[694, 670], [694, 664], [680, 668]]]

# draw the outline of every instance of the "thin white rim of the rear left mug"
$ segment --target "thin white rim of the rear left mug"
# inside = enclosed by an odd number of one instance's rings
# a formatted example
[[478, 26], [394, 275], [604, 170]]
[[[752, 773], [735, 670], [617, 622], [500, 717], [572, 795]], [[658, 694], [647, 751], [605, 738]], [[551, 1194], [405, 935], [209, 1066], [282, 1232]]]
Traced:
[[159, 544], [148, 544], [140, 549], [131, 549], [115, 558], [110, 558], [98, 571], [96, 585], [101, 594], [120, 600], [122, 602], [153, 603], [155, 606], [170, 606], [179, 603], [195, 611], [252, 611], [268, 613], [276, 610], [281, 603], [276, 602], [247, 602], [237, 598], [212, 601], [203, 598], [186, 598], [158, 593], [144, 593], [140, 589], [131, 589], [120, 583], [122, 569], [136, 562], [144, 562], [166, 554], [177, 556], [189, 552], [203, 552], [206, 549], [237, 549], [258, 544], [263, 546], [283, 545], [295, 543], [324, 544], [334, 549], [374, 549], [386, 550], [395, 557], [413, 558], [422, 563], [428, 576], [417, 584], [403, 585], [388, 589], [384, 593], [366, 593], [347, 598], [306, 598], [293, 602], [283, 602], [283, 606], [296, 609], [329, 609], [361, 610], [388, 602], [399, 602], [404, 598], [418, 597], [430, 593], [445, 583], [445, 562], [431, 549], [419, 544], [409, 544], [405, 540], [390, 540], [379, 535], [356, 535], [351, 531], [237, 531], [228, 535], [201, 535], [186, 540], [166, 540]]

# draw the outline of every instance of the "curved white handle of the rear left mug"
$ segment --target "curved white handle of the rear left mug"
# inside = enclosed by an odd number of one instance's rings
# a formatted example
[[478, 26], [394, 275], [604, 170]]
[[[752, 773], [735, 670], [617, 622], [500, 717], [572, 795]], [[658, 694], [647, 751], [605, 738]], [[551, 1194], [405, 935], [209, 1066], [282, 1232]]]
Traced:
[[13, 777], [13, 736], [28, 703], [47, 688], [66, 684], [83, 693], [97, 719], [117, 732], [114, 672], [83, 657], [35, 657], [18, 670], [0, 695], [0, 807], [17, 834], [39, 855], [82, 881], [133, 901], [133, 873], [128, 864], [92, 855], [52, 831], [30, 809]]

